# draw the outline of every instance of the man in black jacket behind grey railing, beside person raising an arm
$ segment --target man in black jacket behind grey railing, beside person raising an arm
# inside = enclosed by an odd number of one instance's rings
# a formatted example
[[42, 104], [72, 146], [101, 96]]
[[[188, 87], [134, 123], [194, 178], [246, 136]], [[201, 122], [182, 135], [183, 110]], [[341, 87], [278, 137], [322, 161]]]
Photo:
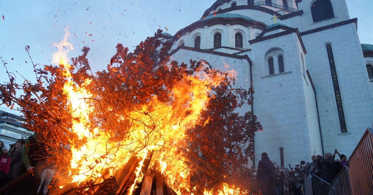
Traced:
[[332, 153], [325, 153], [325, 158], [318, 156], [317, 165], [321, 168], [321, 178], [330, 183], [333, 181], [335, 173], [335, 160]]

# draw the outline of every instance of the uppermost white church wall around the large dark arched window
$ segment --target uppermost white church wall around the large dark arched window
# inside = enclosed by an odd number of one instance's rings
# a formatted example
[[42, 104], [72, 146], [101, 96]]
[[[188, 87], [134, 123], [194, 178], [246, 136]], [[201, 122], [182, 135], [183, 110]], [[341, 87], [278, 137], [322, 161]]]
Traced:
[[300, 25], [302, 26], [300, 28], [300, 32], [316, 29], [322, 26], [327, 26], [350, 19], [346, 1], [330, 0], [333, 6], [334, 18], [313, 23], [311, 6], [314, 1], [315, 0], [302, 0], [300, 3], [298, 3], [298, 10], [303, 10], [303, 14], [300, 16]]

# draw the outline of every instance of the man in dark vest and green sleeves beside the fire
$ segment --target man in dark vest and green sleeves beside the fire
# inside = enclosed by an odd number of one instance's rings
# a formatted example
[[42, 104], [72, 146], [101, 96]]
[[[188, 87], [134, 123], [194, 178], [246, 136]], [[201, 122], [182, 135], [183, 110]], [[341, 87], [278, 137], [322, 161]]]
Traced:
[[46, 162], [47, 152], [44, 147], [43, 135], [34, 133], [26, 139], [25, 146], [22, 150], [22, 160], [25, 164], [27, 172], [33, 174], [23, 180], [22, 193], [36, 195], [41, 181], [41, 175], [44, 171], [43, 168], [33, 170], [35, 166]]

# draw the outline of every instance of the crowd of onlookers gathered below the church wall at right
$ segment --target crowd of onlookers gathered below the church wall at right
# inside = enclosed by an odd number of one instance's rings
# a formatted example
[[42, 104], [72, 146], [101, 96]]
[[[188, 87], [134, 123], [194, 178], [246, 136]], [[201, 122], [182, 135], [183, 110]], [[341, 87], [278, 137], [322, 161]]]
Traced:
[[[339, 159], [335, 159], [338, 154]], [[279, 168], [279, 166], [269, 160], [267, 153], [262, 153], [258, 163], [256, 174], [257, 188], [263, 195], [304, 195], [304, 179], [314, 173], [326, 182], [333, 181], [335, 176], [347, 166], [347, 157], [335, 150], [334, 155], [327, 152], [325, 156], [312, 155], [312, 162], [301, 161], [301, 165], [294, 168], [289, 164], [289, 168]]]

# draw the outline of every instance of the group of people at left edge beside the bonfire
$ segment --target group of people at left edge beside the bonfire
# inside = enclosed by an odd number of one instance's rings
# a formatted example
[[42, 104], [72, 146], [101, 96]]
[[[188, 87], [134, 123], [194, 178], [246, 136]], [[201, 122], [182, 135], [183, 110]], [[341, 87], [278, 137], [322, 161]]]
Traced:
[[47, 194], [48, 185], [53, 176], [53, 163], [35, 167], [47, 161], [48, 153], [41, 134], [34, 133], [26, 140], [18, 140], [10, 145], [11, 149], [0, 141], [0, 188], [23, 173], [30, 173], [21, 182], [13, 185], [3, 194]]

